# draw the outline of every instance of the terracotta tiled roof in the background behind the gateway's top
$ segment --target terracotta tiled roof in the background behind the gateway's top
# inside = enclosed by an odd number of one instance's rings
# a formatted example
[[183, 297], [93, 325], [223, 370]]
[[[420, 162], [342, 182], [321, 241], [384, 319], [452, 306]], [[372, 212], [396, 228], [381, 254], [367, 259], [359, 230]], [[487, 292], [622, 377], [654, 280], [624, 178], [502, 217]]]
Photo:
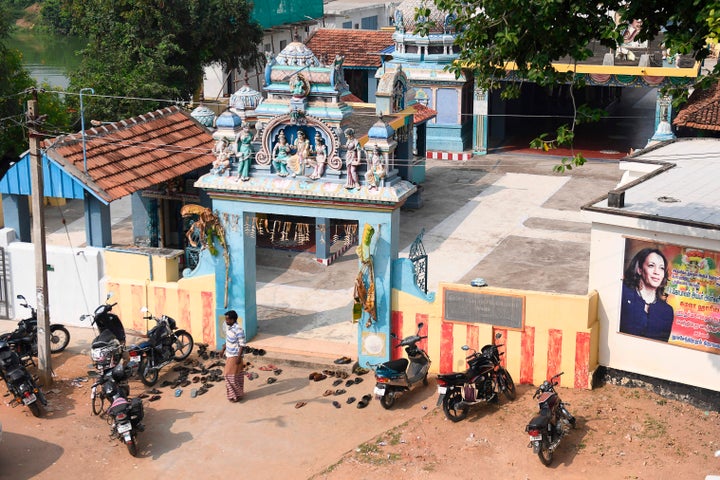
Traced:
[[305, 44], [325, 63], [332, 63], [336, 55], [345, 55], [345, 67], [377, 68], [382, 64], [378, 52], [393, 45], [392, 35], [390, 30], [321, 28]]

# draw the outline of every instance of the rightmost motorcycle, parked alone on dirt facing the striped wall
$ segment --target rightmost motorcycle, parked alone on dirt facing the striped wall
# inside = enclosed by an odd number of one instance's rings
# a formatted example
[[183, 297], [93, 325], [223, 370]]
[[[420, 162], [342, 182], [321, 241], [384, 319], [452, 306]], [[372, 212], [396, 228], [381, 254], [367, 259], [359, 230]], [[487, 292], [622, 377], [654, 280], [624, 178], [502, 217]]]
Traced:
[[563, 372], [554, 375], [550, 380], [545, 380], [535, 390], [533, 399], [537, 399], [540, 408], [540, 415], [537, 415], [525, 427], [530, 435], [528, 448], [533, 449], [540, 458], [543, 465], [550, 466], [553, 459], [553, 452], [560, 445], [560, 440], [575, 428], [575, 417], [565, 408], [566, 403], [560, 400], [555, 391], [557, 379]]

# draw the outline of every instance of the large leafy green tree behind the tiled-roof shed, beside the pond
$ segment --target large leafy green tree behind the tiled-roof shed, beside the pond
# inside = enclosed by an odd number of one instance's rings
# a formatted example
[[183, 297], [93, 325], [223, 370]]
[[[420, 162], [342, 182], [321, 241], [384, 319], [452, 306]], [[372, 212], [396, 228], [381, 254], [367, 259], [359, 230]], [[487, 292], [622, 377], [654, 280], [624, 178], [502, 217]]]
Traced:
[[188, 101], [204, 67], [248, 68], [262, 58], [262, 28], [246, 0], [75, 0], [72, 8], [73, 33], [89, 42], [69, 90], [93, 88], [86, 114], [98, 120], [166, 106], [147, 99]]

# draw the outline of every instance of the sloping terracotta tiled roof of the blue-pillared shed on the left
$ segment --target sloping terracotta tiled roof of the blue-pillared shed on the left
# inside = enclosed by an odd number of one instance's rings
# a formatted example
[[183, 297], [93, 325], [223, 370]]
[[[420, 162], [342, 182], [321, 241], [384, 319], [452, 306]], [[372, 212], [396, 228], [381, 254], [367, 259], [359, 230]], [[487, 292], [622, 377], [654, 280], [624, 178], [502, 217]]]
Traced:
[[43, 142], [46, 154], [107, 202], [209, 167], [212, 135], [189, 113], [169, 107]]

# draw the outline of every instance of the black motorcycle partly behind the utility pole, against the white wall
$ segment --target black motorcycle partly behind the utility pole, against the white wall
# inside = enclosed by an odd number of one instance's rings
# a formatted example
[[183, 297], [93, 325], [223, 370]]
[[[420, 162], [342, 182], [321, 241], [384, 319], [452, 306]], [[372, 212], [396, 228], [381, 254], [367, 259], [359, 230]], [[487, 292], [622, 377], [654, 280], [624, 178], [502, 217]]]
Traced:
[[[22, 295], [17, 296], [20, 306], [30, 309], [30, 316], [18, 322], [17, 328], [9, 333], [0, 335], [0, 340], [8, 342], [17, 352], [25, 365], [35, 365], [33, 357], [38, 355], [37, 346], [37, 310], [25, 300]], [[50, 325], [50, 353], [59, 353], [65, 350], [70, 343], [70, 332], [63, 325], [53, 323]]]

